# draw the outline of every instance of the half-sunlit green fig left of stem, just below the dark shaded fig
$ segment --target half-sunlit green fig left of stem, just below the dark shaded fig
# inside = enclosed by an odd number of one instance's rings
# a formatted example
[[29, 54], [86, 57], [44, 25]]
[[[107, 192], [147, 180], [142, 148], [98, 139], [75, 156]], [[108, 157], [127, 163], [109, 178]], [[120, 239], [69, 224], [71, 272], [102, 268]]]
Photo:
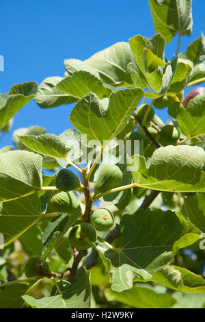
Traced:
[[61, 191], [55, 193], [49, 201], [47, 212], [64, 212], [65, 214], [74, 214], [80, 207], [80, 203], [72, 191]]

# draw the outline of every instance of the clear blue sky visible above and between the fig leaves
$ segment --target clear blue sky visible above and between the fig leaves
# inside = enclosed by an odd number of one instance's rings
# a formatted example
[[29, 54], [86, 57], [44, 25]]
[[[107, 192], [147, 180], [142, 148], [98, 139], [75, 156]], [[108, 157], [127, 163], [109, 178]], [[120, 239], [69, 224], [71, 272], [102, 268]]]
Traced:
[[[5, 71], [0, 72], [0, 92], [13, 84], [64, 75], [64, 59], [85, 60], [118, 41], [141, 34], [154, 34], [147, 0], [1, 0], [0, 55]], [[193, 34], [182, 37], [181, 51], [204, 30], [205, 1], [193, 0]], [[177, 38], [167, 47], [167, 57], [176, 53]], [[70, 127], [72, 106], [40, 109], [31, 101], [16, 116], [14, 129], [41, 125], [60, 134]], [[157, 111], [162, 119], [165, 110]], [[12, 132], [0, 147], [12, 145]]]

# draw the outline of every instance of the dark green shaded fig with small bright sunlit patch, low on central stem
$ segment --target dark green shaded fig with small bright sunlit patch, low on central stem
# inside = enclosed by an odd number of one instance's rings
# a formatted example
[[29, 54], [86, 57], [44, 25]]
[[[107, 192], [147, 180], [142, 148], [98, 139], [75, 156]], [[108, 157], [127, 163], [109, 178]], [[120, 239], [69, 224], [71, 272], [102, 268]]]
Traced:
[[88, 249], [91, 247], [87, 239], [95, 243], [97, 239], [96, 229], [90, 223], [79, 223], [70, 230], [68, 240], [70, 245], [77, 250]]

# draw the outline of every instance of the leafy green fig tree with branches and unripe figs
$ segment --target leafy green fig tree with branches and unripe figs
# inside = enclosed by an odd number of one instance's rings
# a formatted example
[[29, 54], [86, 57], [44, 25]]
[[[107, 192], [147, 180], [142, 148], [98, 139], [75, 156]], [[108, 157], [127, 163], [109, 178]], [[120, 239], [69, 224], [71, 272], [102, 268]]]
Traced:
[[0, 95], [2, 135], [31, 99], [75, 127], [0, 149], [0, 308], [205, 308], [204, 34], [180, 52], [192, 1], [148, 3], [152, 38]]

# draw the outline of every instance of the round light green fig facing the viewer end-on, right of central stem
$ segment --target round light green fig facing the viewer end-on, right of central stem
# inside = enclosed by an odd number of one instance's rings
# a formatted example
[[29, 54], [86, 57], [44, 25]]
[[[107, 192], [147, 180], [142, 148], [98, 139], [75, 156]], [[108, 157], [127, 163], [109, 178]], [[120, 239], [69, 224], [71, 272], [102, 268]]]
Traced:
[[96, 230], [100, 230], [101, 232], [109, 230], [113, 222], [113, 214], [105, 208], [97, 209], [92, 213], [91, 223], [96, 227]]

